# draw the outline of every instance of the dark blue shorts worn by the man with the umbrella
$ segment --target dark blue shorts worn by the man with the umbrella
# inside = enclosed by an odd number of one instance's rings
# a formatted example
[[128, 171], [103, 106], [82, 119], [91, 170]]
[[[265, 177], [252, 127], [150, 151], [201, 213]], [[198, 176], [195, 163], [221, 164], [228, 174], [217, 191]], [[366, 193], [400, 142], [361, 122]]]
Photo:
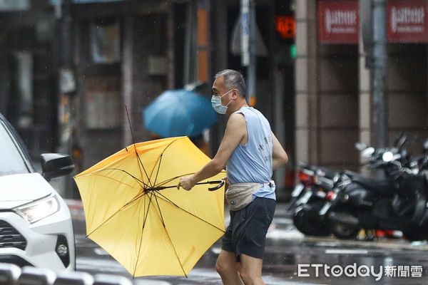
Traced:
[[237, 262], [240, 254], [263, 259], [266, 233], [273, 219], [275, 204], [274, 199], [256, 197], [243, 209], [230, 211], [230, 224], [222, 239], [222, 249], [235, 253]]

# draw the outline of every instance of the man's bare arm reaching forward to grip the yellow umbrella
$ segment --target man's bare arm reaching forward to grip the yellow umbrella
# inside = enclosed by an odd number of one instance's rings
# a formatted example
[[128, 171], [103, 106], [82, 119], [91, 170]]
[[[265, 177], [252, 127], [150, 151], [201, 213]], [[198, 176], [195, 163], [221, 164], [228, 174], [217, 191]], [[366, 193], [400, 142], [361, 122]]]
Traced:
[[186, 190], [190, 190], [195, 183], [217, 175], [218, 172], [225, 169], [230, 155], [232, 155], [235, 148], [238, 147], [246, 133], [247, 125], [244, 116], [240, 113], [230, 115], [228, 124], [226, 125], [225, 135], [223, 136], [223, 140], [220, 143], [220, 147], [218, 147], [215, 157], [196, 172], [195, 175], [181, 178], [177, 187], [179, 188], [181, 186]]

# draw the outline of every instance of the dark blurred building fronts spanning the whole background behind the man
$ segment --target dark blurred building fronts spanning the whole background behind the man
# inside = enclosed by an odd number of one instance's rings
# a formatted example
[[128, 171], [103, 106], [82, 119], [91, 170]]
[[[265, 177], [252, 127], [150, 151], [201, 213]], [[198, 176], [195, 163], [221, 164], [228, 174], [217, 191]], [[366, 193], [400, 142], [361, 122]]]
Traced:
[[[428, 137], [428, 2], [411, 2], [387, 1], [385, 95], [388, 145], [404, 132], [417, 154], [416, 136]], [[31, 153], [73, 153], [76, 172], [153, 138], [142, 111], [164, 90], [198, 83], [210, 98], [218, 71], [248, 77], [240, 0], [14, 3], [24, 6], [0, 12], [1, 113]], [[58, 11], [71, 15], [66, 40]], [[298, 162], [360, 170], [355, 142], [372, 145], [375, 131], [360, 1], [258, 0], [255, 13], [255, 108], [290, 155], [275, 173], [279, 194], [288, 195]], [[71, 48], [66, 66], [60, 42]], [[211, 156], [226, 120], [210, 128]]]

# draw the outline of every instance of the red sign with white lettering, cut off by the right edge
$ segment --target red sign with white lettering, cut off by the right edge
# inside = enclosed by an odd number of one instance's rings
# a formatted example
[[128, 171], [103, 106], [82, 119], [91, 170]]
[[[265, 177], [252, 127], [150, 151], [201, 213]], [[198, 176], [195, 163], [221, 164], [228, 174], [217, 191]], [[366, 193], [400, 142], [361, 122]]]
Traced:
[[428, 1], [388, 1], [388, 41], [426, 43], [428, 41]]

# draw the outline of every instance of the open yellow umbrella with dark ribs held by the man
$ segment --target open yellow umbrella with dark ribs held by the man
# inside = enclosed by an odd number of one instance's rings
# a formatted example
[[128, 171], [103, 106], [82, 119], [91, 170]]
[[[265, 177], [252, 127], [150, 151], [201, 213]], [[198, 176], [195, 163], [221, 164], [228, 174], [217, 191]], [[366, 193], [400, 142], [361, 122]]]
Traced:
[[224, 187], [175, 187], [208, 161], [187, 137], [165, 138], [126, 147], [76, 175], [88, 237], [133, 276], [187, 276], [225, 232]]

